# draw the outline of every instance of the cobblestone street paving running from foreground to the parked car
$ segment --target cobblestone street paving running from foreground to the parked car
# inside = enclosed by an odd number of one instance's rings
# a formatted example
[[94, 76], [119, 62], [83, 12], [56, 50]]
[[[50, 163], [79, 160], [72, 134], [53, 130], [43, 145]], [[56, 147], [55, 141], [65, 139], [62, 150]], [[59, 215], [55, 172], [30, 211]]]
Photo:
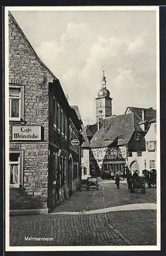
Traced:
[[[85, 211], [135, 203], [156, 203], [156, 189], [130, 194], [127, 184], [100, 181], [99, 191], [77, 191], [51, 214], [10, 217], [10, 246], [156, 245], [156, 210], [84, 214]], [[66, 212], [66, 214], [56, 214]], [[67, 212], [80, 212], [68, 215]], [[53, 241], [25, 241], [25, 237]]]

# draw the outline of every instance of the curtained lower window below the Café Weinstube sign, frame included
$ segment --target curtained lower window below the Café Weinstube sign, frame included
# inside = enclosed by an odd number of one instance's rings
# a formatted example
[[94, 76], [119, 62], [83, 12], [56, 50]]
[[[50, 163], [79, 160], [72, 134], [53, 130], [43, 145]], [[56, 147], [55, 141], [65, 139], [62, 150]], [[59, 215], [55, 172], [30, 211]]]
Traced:
[[23, 151], [9, 152], [10, 186], [22, 186], [22, 157]]

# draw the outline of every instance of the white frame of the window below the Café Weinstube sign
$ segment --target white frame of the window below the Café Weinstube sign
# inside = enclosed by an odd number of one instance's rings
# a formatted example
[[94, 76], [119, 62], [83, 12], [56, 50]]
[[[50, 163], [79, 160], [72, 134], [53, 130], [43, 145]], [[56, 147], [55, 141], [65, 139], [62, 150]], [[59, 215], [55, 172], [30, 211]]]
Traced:
[[[17, 162], [11, 162], [9, 159], [9, 186], [23, 186], [23, 150], [10, 150], [9, 154], [19, 154], [19, 160]], [[18, 184], [10, 184], [10, 164], [18, 164]]]

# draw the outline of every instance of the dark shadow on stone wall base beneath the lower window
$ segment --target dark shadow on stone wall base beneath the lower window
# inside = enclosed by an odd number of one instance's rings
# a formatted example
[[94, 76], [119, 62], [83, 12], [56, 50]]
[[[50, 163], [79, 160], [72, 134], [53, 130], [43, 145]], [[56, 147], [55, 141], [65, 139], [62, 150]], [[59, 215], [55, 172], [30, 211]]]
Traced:
[[43, 204], [35, 197], [27, 195], [22, 188], [10, 188], [10, 210], [42, 209]]

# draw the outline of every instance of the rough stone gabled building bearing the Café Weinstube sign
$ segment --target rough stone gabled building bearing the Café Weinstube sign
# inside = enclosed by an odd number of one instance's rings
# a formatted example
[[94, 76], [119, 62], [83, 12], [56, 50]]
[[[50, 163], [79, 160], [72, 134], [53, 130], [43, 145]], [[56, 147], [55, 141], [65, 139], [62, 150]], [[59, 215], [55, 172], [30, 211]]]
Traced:
[[17, 208], [12, 205], [20, 193], [28, 196], [25, 208], [32, 208], [28, 202], [32, 198], [45, 212], [68, 197], [71, 121], [80, 139], [80, 121], [59, 80], [9, 12], [10, 208]]

